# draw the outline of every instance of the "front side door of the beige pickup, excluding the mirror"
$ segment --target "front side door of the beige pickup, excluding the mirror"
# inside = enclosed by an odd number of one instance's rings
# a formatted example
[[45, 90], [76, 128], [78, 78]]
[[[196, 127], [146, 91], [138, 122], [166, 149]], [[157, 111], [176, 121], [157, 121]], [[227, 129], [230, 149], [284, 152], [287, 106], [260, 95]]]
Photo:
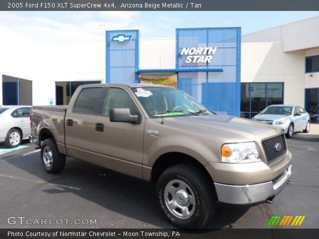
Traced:
[[[101, 166], [142, 178], [145, 118], [130, 93], [121, 87], [107, 88], [100, 114], [95, 119], [94, 149]], [[132, 93], [133, 94], [133, 93]], [[129, 108], [139, 124], [111, 122], [110, 108]]]

